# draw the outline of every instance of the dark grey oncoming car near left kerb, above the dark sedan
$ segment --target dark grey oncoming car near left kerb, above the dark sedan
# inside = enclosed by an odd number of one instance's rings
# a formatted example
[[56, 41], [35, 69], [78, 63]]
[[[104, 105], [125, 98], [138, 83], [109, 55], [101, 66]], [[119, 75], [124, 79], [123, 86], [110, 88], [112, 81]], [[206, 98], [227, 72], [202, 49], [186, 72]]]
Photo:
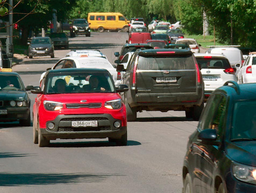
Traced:
[[27, 44], [29, 45], [29, 58], [33, 56], [51, 56], [54, 58], [54, 46], [49, 37], [35, 37]]

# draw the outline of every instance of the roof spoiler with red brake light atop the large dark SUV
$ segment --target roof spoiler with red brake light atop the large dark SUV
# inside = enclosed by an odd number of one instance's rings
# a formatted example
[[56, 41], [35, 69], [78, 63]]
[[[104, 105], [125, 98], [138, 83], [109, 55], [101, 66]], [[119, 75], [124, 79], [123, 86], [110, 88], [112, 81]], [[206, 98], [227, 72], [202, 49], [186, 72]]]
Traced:
[[158, 55], [158, 54], [192, 54], [192, 52], [187, 49], [171, 49], [171, 48], [139, 50], [139, 55]]

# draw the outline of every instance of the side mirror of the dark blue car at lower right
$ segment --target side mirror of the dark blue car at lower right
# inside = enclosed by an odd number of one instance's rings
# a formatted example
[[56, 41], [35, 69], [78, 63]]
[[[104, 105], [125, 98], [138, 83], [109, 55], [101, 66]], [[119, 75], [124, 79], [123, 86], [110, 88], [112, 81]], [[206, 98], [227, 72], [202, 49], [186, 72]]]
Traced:
[[215, 129], [205, 129], [198, 135], [198, 139], [202, 140], [203, 144], [219, 145], [217, 141], [217, 131]]

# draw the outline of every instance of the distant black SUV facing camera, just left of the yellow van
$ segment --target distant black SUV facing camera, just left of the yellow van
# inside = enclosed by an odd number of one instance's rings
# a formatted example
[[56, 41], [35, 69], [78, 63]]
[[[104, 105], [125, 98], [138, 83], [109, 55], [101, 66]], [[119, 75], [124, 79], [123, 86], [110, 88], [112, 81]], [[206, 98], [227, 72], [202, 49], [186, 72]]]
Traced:
[[70, 37], [74, 37], [75, 34], [86, 34], [88, 37], [91, 36], [91, 29], [87, 19], [73, 19], [69, 31]]

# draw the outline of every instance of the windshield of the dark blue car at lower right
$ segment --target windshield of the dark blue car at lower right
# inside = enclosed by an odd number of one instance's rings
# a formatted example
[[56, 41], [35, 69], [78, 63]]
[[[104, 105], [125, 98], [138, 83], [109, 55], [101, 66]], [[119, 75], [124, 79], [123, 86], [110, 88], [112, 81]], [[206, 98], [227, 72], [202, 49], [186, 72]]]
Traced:
[[231, 140], [256, 138], [256, 101], [234, 103]]

